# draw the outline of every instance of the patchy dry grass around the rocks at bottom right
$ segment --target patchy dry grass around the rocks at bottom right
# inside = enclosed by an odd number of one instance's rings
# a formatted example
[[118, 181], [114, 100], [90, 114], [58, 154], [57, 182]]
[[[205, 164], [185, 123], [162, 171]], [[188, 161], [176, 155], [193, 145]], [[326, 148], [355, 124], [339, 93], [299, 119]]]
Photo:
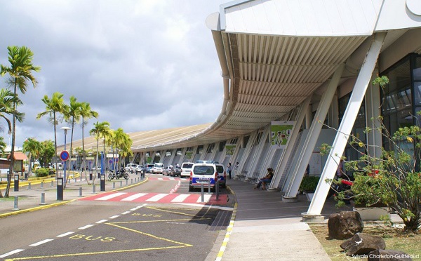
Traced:
[[[314, 236], [319, 239], [332, 261], [367, 260], [367, 258], [349, 257], [342, 252], [340, 244], [345, 240], [330, 239], [328, 225], [309, 224]], [[385, 240], [386, 249], [400, 250], [408, 255], [414, 255], [413, 260], [421, 260], [421, 232], [403, 232], [401, 228], [381, 225], [365, 225], [363, 233], [380, 236]]]

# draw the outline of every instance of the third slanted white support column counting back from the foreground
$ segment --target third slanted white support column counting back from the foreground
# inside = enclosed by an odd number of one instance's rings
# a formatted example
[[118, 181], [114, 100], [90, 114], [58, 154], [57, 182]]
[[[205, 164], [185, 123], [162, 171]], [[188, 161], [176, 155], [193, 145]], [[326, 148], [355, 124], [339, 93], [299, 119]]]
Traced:
[[278, 187], [279, 182], [281, 182], [282, 175], [286, 169], [286, 164], [288, 163], [288, 160], [293, 152], [295, 142], [298, 138], [298, 133], [300, 133], [300, 126], [302, 125], [302, 121], [304, 121], [304, 118], [307, 114], [311, 100], [312, 95], [309, 95], [309, 97], [307, 97], [307, 99], [305, 99], [305, 101], [302, 102], [300, 106], [300, 110], [298, 111], [297, 118], [295, 119], [295, 124], [293, 126], [293, 130], [291, 131], [290, 138], [286, 142], [286, 147], [283, 149], [281, 159], [279, 159], [279, 164], [275, 168], [274, 178], [272, 179], [270, 187], [272, 187], [272, 184], [273, 187]]

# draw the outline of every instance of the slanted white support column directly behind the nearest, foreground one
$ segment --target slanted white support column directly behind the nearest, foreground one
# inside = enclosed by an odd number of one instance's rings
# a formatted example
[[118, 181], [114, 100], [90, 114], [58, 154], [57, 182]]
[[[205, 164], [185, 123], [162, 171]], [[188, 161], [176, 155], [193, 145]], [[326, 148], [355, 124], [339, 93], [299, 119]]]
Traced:
[[345, 64], [340, 65], [333, 74], [332, 79], [330, 79], [328, 88], [321, 96], [319, 102], [319, 107], [316, 111], [316, 116], [314, 116], [312, 126], [309, 128], [309, 134], [305, 139], [304, 145], [300, 152], [300, 156], [297, 161], [297, 165], [293, 170], [293, 175], [291, 176], [291, 181], [288, 184], [286, 189], [285, 198], [295, 198], [297, 196], [298, 188], [300, 187], [302, 176], [305, 173], [305, 169], [310, 161], [312, 156], [314, 146], [316, 146], [317, 139], [319, 138], [321, 127], [323, 126], [319, 121], [323, 122], [326, 119], [330, 104], [332, 103], [333, 96], [335, 95], [336, 88], [340, 81], [340, 76], [345, 67]]

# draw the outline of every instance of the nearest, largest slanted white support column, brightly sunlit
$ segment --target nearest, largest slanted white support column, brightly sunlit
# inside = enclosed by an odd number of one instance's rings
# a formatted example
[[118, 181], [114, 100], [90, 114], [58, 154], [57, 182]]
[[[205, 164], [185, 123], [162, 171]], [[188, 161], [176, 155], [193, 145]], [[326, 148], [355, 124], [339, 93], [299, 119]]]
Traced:
[[347, 109], [345, 109], [344, 116], [340, 122], [338, 133], [333, 141], [330, 156], [326, 160], [326, 164], [321, 173], [319, 185], [317, 185], [316, 192], [310, 203], [307, 213], [303, 213], [303, 220], [317, 218], [320, 216], [321, 209], [326, 201], [330, 186], [325, 182], [326, 179], [333, 179], [335, 170], [338, 168], [340, 157], [344, 153], [348, 142], [349, 134], [352, 131], [356, 116], [358, 116], [359, 108], [363, 102], [364, 95], [366, 95], [368, 84], [370, 84], [371, 75], [375, 68], [375, 63], [382, 49], [383, 41], [385, 41], [386, 32], [377, 33], [373, 35], [373, 41], [370, 44], [366, 60], [364, 60], [356, 79], [352, 95], [349, 98]]

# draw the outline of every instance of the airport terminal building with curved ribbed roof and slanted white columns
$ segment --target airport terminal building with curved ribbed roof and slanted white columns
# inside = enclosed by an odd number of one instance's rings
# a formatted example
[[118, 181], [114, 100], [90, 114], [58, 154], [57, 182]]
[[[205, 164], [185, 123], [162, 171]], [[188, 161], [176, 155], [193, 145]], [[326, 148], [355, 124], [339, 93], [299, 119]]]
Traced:
[[[358, 157], [350, 134], [383, 146], [379, 133], [364, 133], [373, 117], [382, 115], [391, 133], [416, 123], [419, 0], [238, 0], [208, 15], [206, 25], [222, 71], [218, 119], [128, 133], [135, 163], [239, 162], [234, 174], [245, 180], [271, 167], [270, 188], [293, 199], [307, 165], [325, 180], [340, 156]], [[385, 88], [371, 84], [377, 75], [389, 78]], [[333, 146], [332, 156], [319, 153], [322, 143]], [[96, 146], [95, 138], [86, 138], [89, 144]], [[328, 189], [319, 182], [308, 215], [320, 215]]]

